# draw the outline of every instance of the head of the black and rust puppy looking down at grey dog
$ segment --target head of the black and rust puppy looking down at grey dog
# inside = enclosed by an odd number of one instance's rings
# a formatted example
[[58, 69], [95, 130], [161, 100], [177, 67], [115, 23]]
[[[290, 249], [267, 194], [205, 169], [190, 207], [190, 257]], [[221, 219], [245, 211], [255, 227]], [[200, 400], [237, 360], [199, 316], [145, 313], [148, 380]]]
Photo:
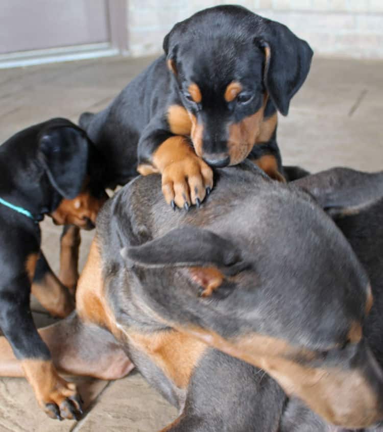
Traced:
[[[195, 151], [213, 166], [237, 164], [258, 140], [272, 137], [275, 109], [288, 114], [313, 55], [285, 26], [239, 6], [206, 9], [179, 22], [163, 48]], [[184, 122], [174, 106], [168, 119], [171, 129]]]

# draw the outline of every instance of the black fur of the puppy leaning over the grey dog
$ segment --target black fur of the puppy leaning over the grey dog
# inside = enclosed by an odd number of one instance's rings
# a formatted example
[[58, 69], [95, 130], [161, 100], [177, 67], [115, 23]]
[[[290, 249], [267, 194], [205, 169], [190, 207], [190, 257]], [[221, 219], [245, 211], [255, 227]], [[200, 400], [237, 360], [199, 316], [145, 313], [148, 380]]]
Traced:
[[[265, 57], [266, 46], [270, 58]], [[206, 9], [179, 22], [163, 47], [165, 55], [105, 110], [80, 117], [80, 125], [104, 156], [105, 184], [110, 187], [127, 183], [136, 175], [137, 164], [151, 163], [158, 146], [173, 136], [166, 118], [171, 105], [185, 107], [203, 125], [203, 152], [210, 156], [228, 151], [228, 126], [259, 110], [266, 91], [270, 99], [265, 117], [276, 110], [286, 115], [313, 55], [285, 26], [239, 6]], [[166, 60], [174, 61], [176, 75]], [[225, 102], [225, 88], [233, 80], [242, 83], [250, 102]], [[191, 82], [200, 87], [201, 104], [187, 99]], [[249, 157], [272, 154], [281, 169], [275, 133], [262, 148], [256, 147]]]

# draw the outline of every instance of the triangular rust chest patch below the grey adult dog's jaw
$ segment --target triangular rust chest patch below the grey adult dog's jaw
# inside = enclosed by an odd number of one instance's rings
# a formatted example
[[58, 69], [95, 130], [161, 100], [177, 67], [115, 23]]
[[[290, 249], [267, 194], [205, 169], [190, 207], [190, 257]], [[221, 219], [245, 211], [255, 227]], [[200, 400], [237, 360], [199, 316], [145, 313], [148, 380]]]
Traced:
[[193, 370], [207, 346], [177, 330], [165, 330], [152, 334], [126, 333], [131, 344], [145, 352], [152, 361], [180, 389], [185, 389]]

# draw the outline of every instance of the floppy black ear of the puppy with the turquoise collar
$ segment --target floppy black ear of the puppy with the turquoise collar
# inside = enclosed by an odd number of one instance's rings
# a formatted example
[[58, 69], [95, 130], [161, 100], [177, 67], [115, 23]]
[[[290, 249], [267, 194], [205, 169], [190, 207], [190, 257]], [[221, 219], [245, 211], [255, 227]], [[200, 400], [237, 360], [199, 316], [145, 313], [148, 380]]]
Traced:
[[39, 137], [39, 153], [52, 186], [64, 198], [75, 198], [87, 173], [89, 143], [85, 132], [70, 126], [48, 129]]

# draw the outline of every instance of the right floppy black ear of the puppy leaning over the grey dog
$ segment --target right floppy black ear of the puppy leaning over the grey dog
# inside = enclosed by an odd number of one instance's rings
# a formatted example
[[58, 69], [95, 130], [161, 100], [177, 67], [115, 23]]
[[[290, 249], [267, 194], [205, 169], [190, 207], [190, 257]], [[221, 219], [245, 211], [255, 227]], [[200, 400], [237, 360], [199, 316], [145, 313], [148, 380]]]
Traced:
[[264, 83], [278, 111], [287, 115], [290, 100], [310, 69], [313, 50], [279, 22], [265, 20], [255, 43], [265, 51]]

